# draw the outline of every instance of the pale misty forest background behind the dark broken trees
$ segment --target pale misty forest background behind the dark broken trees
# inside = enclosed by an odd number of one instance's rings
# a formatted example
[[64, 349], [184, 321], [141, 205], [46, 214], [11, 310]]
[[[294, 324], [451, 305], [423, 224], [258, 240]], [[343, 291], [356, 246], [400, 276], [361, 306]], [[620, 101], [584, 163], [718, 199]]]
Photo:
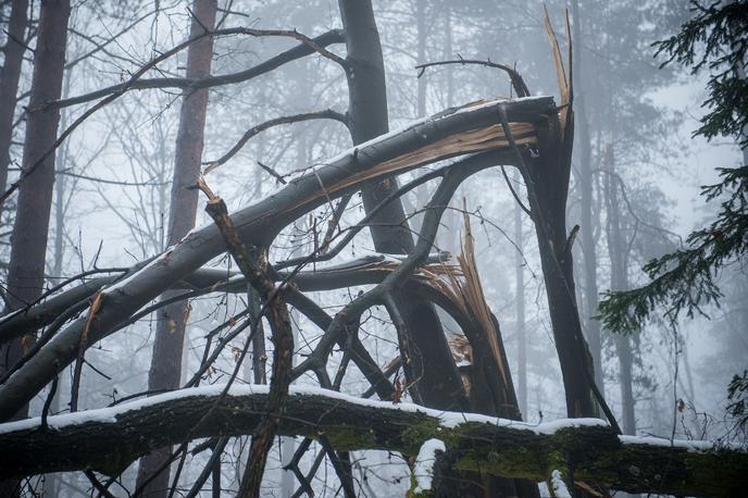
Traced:
[[[2, 2], [5, 46], [12, 41], [7, 28], [15, 3]], [[626, 434], [745, 443], [745, 431], [726, 409], [727, 386], [745, 370], [748, 352], [748, 279], [741, 264], [719, 272], [716, 282], [724, 296], [720, 306], [707, 304], [706, 314], [684, 314], [673, 323], [663, 315], [665, 310], [659, 310], [640, 332], [628, 335], [612, 334], [594, 319], [601, 292], [646, 283], [641, 267], [647, 261], [683, 247], [690, 231], [713, 217], [719, 201], [705, 202], [699, 186], [716, 182], [716, 167], [735, 166], [743, 160], [740, 147], [730, 137], [709, 142], [691, 137], [705, 112], [701, 102], [707, 98], [709, 69], [694, 74], [678, 64], [660, 67], [664, 58], [654, 57], [652, 42], [677, 33], [693, 15], [687, 2], [375, 1], [389, 127], [396, 129], [475, 100], [515, 97], [510, 79], [500, 71], [466, 64], [415, 69], [426, 62], [464, 58], [504, 63], [524, 77], [533, 96], [556, 96], [560, 101], [543, 25], [544, 3], [558, 33], [563, 32], [566, 8], [573, 25], [576, 135], [568, 227], [579, 225], [573, 245], [575, 290], [597, 385]], [[314, 37], [340, 26], [338, 4], [332, 0], [220, 0], [217, 4], [216, 22], [222, 27], [297, 29]], [[39, 2], [32, 1], [22, 32], [30, 48], [36, 43], [38, 13]], [[187, 39], [191, 24], [191, 2], [187, 1], [73, 2], [62, 98], [127, 80], [160, 52]], [[296, 43], [285, 38], [219, 37], [213, 40], [210, 72], [236, 73]], [[345, 46], [333, 45], [328, 50], [345, 57]], [[166, 59], [150, 70], [149, 77], [184, 76], [186, 54], [184, 50]], [[8, 185], [18, 177], [22, 163], [32, 58], [26, 51], [20, 73]], [[255, 79], [213, 87], [208, 96], [203, 165], [223, 157], [248, 129], [269, 120], [312, 111], [345, 113], [348, 108], [345, 73], [320, 54]], [[46, 257], [48, 288], [89, 270], [127, 269], [169, 246], [182, 100], [178, 88], [126, 92], [87, 119], [57, 149]], [[61, 109], [60, 129], [91, 105]], [[253, 136], [205, 178], [234, 212], [276, 189], [289, 173], [323, 164], [351, 145], [350, 134], [335, 119], [273, 126]], [[420, 173], [408, 173], [400, 182]], [[523, 192], [521, 177], [509, 169], [507, 174]], [[413, 231], [419, 229], [432, 192], [433, 185], [426, 184], [402, 198]], [[11, 196], [0, 212], [0, 282], [5, 282], [10, 263], [15, 202], [16, 197]], [[203, 204], [200, 197], [196, 226], [212, 223]], [[531, 423], [565, 418], [537, 240], [501, 170], [473, 175], [458, 189], [444, 214], [436, 249], [460, 253], [464, 213], [470, 217], [486, 300], [501, 324], [520, 411]], [[271, 259], [299, 257], [317, 247], [328, 216], [322, 209], [297, 220], [274, 241]], [[362, 216], [362, 200], [356, 195], [342, 220], [351, 224]], [[373, 242], [363, 231], [340, 258], [372, 253]], [[225, 254], [211, 264], [235, 269]], [[309, 294], [332, 315], [364, 288], [369, 287]], [[242, 294], [221, 292], [190, 300], [180, 359], [183, 384], [202, 361], [207, 333], [244, 310], [246, 300]], [[291, 321], [298, 363], [321, 332], [296, 311], [291, 311]], [[157, 326], [158, 315], [151, 313], [88, 350], [78, 410], [105, 407], [148, 389]], [[265, 332], [270, 334], [267, 324]], [[469, 353], [462, 356], [459, 326], [445, 319], [445, 332], [458, 364], [470, 362]], [[384, 307], [364, 313], [360, 338], [381, 368], [397, 357], [397, 337]], [[242, 345], [244, 336], [235, 338], [203, 375], [203, 384], [226, 382]], [[272, 348], [270, 341], [265, 346]], [[258, 352], [250, 351], [238, 382], [263, 379], [252, 365], [262, 364], [270, 372], [270, 364], [265, 365]], [[342, 356], [335, 350], [328, 363], [333, 375]], [[68, 410], [73, 370], [71, 366], [60, 376], [52, 413]], [[317, 381], [308, 373], [295, 385], [317, 385]], [[350, 366], [341, 390], [358, 396], [367, 388], [363, 375]], [[46, 394], [30, 402], [30, 415], [41, 412]], [[410, 400], [407, 390], [402, 400]], [[226, 493], [238, 487], [248, 440], [233, 438], [224, 449], [222, 486]], [[298, 482], [283, 466], [299, 441], [277, 439], [265, 469], [263, 495], [296, 491]], [[208, 457], [201, 452], [187, 458], [179, 477], [182, 487], [190, 487]], [[311, 465], [314, 453], [304, 459], [302, 465]], [[356, 452], [352, 469], [361, 494], [402, 496], [410, 486], [407, 463], [396, 453]], [[134, 464], [121, 481], [132, 489], [136, 475]], [[320, 496], [339, 490], [329, 460], [324, 460], [311, 483]], [[78, 496], [91, 486], [83, 473], [36, 477], [23, 485], [26, 493], [47, 496]], [[112, 493], [121, 489], [112, 488]]]

